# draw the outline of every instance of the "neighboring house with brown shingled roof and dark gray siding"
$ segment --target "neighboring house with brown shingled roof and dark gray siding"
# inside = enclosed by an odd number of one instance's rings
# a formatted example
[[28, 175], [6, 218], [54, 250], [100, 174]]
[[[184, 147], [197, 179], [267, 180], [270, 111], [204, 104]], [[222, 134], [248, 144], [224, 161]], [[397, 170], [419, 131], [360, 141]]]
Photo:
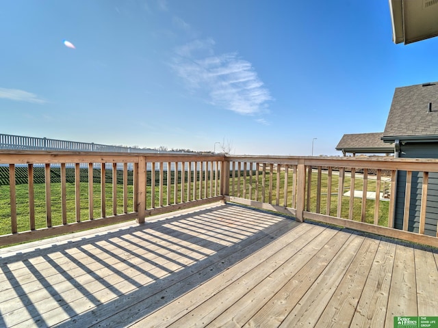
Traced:
[[[397, 87], [387, 118], [383, 141], [394, 143], [400, 158], [438, 159], [438, 82]], [[402, 229], [406, 172], [398, 172], [395, 228]], [[408, 230], [418, 232], [422, 197], [422, 172], [413, 172]], [[428, 180], [425, 234], [436, 236], [438, 174]]]

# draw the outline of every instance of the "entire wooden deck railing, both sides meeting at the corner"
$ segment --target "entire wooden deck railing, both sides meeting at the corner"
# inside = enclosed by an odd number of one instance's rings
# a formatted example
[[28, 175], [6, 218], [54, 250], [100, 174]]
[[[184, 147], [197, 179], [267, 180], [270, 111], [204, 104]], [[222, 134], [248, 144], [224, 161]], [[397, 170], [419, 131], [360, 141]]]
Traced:
[[1, 150], [0, 169], [0, 245], [225, 200], [438, 246], [436, 160]]

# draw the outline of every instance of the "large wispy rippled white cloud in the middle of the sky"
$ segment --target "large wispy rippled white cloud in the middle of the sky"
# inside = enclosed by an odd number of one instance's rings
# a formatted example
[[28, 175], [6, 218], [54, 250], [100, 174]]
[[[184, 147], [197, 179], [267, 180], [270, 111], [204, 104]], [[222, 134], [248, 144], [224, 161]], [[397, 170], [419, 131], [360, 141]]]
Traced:
[[215, 55], [214, 40], [194, 40], [176, 49], [172, 68], [207, 100], [240, 114], [260, 113], [272, 100], [249, 61], [237, 53]]

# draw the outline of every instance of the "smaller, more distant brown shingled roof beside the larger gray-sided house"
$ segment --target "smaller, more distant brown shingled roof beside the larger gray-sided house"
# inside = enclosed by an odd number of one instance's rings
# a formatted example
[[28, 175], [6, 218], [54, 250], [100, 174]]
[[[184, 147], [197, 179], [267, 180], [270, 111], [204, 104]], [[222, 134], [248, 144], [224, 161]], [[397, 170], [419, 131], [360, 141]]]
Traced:
[[342, 136], [336, 150], [345, 153], [383, 154], [394, 152], [394, 146], [382, 141], [383, 133], [355, 133]]

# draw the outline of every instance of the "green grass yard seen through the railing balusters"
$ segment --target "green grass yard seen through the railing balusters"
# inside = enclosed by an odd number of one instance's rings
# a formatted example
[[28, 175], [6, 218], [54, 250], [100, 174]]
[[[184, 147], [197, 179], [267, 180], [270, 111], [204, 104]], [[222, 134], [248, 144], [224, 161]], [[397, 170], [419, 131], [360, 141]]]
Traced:
[[[25, 168], [27, 169], [27, 168]], [[83, 170], [83, 172], [82, 172]], [[94, 183], [93, 183], [93, 217], [99, 218], [101, 217], [101, 183], [100, 183], [100, 171], [95, 170], [94, 172]], [[107, 176], [105, 178], [105, 212], [106, 216], [110, 216], [113, 213], [113, 197], [112, 197], [112, 176], [111, 176], [111, 170], [107, 170]], [[34, 180], [36, 182], [44, 181], [44, 176], [40, 175], [44, 174], [44, 171], [35, 171], [34, 172]], [[123, 184], [121, 182], [123, 179], [120, 180], [120, 174], [121, 172], [118, 172], [118, 184], [117, 184], [117, 213], [121, 214], [123, 213]], [[130, 172], [131, 174], [131, 172]], [[272, 174], [272, 178], [271, 175]], [[24, 172], [21, 172], [21, 176], [25, 176]], [[158, 180], [158, 172], [155, 175], [156, 182], [155, 182], [155, 204], [154, 206], [151, 204], [151, 172], [148, 172], [148, 187], [146, 189], [146, 208], [153, 208], [159, 206], [159, 180]], [[61, 208], [61, 184], [57, 180], [58, 174], [56, 169], [51, 172], [51, 210], [52, 210], [52, 226], [57, 226], [62, 224], [62, 208]], [[185, 180], [187, 180], [187, 174], [185, 174]], [[1, 176], [0, 176], [1, 178]], [[169, 191], [169, 204], [174, 203], [174, 188], [175, 184], [174, 176], [172, 174], [171, 176], [171, 187]], [[177, 202], [181, 201], [181, 172], [178, 174], [179, 183], [178, 186], [178, 192], [177, 192]], [[192, 177], [193, 178], [193, 177]], [[246, 198], [251, 198], [253, 200], [255, 199], [256, 189], [258, 189], [258, 197], [257, 200], [261, 201], [262, 193], [263, 193], [263, 183], [262, 183], [262, 174], [259, 172], [259, 182], [258, 186], [256, 186], [256, 176], [255, 171], [253, 171], [253, 176], [249, 176], [249, 171], [247, 171], [246, 174], [246, 180], [244, 181], [243, 178], [243, 171], [240, 174], [240, 186], [237, 186], [237, 174], [235, 175], [235, 185], [233, 187], [233, 179], [230, 178], [230, 195], [243, 197], [243, 190], [244, 185], [246, 185]], [[88, 174], [87, 169], [81, 169], [81, 182], [80, 182], [80, 200], [81, 200], [81, 221], [88, 220], [89, 218], [89, 209], [88, 209]], [[266, 172], [265, 177], [265, 188], [264, 188], [264, 194], [265, 194], [265, 202], [269, 202], [270, 200], [270, 184], [272, 184], [272, 204], [276, 204], [276, 200], [278, 197], [279, 204], [281, 206], [287, 206], [287, 207], [295, 207], [292, 206], [292, 182], [293, 182], [293, 173], [292, 169], [289, 169], [288, 176], [287, 176], [287, 202], [284, 203], [284, 181], [285, 181], [285, 171], [282, 170], [280, 172], [280, 188], [279, 188], [279, 195], [276, 195], [276, 189], [277, 189], [277, 172], [273, 170], [273, 172]], [[19, 179], [21, 184], [16, 185], [16, 213], [17, 213], [17, 225], [18, 225], [18, 232], [27, 231], [30, 229], [29, 226], [29, 192], [28, 192], [28, 186], [27, 186], [27, 178], [24, 179], [23, 177]], [[67, 180], [69, 181], [69, 180]], [[70, 181], [71, 180], [71, 172], [70, 172]], [[164, 186], [163, 186], [163, 204], [166, 205], [167, 203], [167, 177], [166, 172], [164, 172]], [[311, 200], [310, 200], [310, 207], [309, 210], [312, 212], [316, 212], [316, 191], [317, 191], [317, 174], [312, 174], [312, 180], [311, 180]], [[332, 190], [331, 190], [331, 215], [336, 215], [337, 213], [337, 187], [338, 187], [338, 181], [339, 176], [337, 176], [335, 173], [333, 173], [332, 177]], [[4, 184], [5, 182], [8, 182], [8, 184]], [[322, 173], [322, 180], [321, 180], [321, 199], [320, 199], [320, 213], [322, 214], [328, 214], [326, 213], [326, 202], [327, 202], [327, 174], [326, 172]], [[18, 183], [18, 182], [17, 182]], [[251, 186], [250, 186], [251, 184]], [[205, 187], [204, 182], [202, 183], [203, 188]], [[185, 190], [184, 190], [184, 200], [187, 198], [187, 182], [185, 183]], [[256, 188], [257, 187], [257, 188]], [[357, 176], [355, 179], [355, 190], [361, 190], [363, 187], [363, 179], [360, 178], [360, 176]], [[46, 200], [45, 200], [45, 191], [44, 191], [45, 185], [44, 183], [35, 183], [34, 184], [34, 204], [35, 204], [35, 221], [36, 221], [36, 228], [45, 228], [46, 227]], [[382, 183], [382, 189], [384, 188], [384, 185]], [[214, 189], [214, 181], [213, 181], [213, 189]], [[251, 189], [251, 190], [250, 190]], [[344, 183], [344, 192], [348, 191], [350, 189], [350, 177], [346, 176], [345, 183]], [[385, 189], [388, 189], [387, 186], [385, 186]], [[376, 181], [372, 180], [372, 178], [369, 178], [368, 180], [368, 191], [375, 191], [376, 190]], [[234, 192], [233, 192], [234, 191]], [[343, 192], [343, 193], [344, 193]], [[213, 190], [214, 193], [214, 190]], [[196, 183], [196, 198], [198, 199], [199, 195], [199, 182]], [[204, 190], [202, 192], [202, 195], [204, 195]], [[207, 186], [207, 195], [209, 195], [209, 183]], [[73, 223], [75, 221], [75, 184], [71, 182], [66, 183], [66, 203], [67, 203], [67, 221], [68, 223]], [[193, 199], [193, 183], [191, 184], [191, 199]], [[132, 185], [132, 178], [128, 178], [128, 185], [127, 185], [127, 211], [131, 212], [133, 211], [133, 185]], [[361, 219], [361, 198], [355, 198], [354, 199], [354, 206], [353, 206], [353, 219], [360, 221]], [[381, 226], [387, 225], [387, 219], [388, 219], [388, 210], [389, 210], [389, 202], [380, 201], [379, 202], [379, 221], [378, 224]], [[373, 223], [374, 221], [374, 200], [367, 200], [366, 203], [366, 222]], [[350, 197], [342, 197], [342, 217], [348, 218], [348, 210], [350, 208]], [[9, 180], [8, 178], [3, 177], [3, 185], [0, 185], [0, 234], [9, 234], [11, 232], [10, 228], [10, 189], [9, 189]]]

